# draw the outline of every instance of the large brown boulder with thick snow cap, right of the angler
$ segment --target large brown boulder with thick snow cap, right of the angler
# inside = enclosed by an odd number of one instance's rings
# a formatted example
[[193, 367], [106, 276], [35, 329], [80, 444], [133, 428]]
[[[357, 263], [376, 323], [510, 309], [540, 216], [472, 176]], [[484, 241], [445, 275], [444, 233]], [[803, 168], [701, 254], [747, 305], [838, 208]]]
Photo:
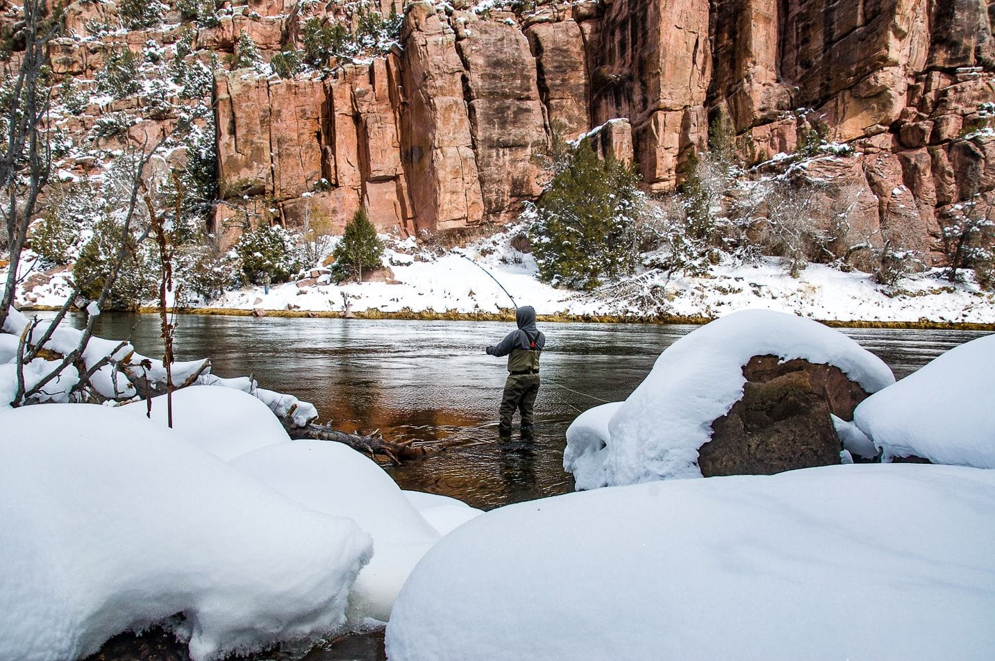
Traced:
[[864, 393], [894, 382], [881, 358], [840, 331], [783, 313], [735, 313], [669, 346], [616, 410], [578, 418], [563, 466], [578, 489], [591, 489], [838, 463], [830, 414], [852, 419]]

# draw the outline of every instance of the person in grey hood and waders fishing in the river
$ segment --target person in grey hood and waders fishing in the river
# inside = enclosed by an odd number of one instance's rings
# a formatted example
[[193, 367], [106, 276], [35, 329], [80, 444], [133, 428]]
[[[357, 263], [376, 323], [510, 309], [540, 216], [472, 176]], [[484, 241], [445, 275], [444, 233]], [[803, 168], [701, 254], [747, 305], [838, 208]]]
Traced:
[[501, 436], [511, 434], [511, 416], [514, 409], [521, 413], [521, 435], [532, 435], [532, 413], [535, 396], [539, 393], [539, 354], [546, 344], [546, 336], [535, 328], [535, 309], [522, 306], [514, 311], [517, 331], [511, 331], [494, 346], [488, 346], [491, 355], [507, 356], [507, 381], [500, 402]]

